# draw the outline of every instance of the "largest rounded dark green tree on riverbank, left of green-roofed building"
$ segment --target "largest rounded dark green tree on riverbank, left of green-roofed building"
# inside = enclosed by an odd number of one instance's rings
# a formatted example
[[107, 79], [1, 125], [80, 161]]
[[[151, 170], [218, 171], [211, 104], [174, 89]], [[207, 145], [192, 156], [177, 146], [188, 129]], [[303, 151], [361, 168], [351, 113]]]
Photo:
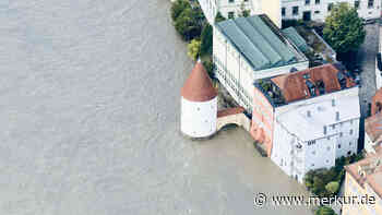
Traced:
[[191, 8], [184, 9], [177, 17], [175, 28], [187, 41], [199, 37], [202, 32], [200, 12]]

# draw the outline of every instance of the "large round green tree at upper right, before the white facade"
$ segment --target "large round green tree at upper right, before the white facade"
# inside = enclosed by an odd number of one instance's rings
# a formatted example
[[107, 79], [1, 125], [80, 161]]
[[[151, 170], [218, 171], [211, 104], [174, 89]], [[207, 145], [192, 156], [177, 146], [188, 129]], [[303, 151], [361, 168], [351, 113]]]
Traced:
[[325, 20], [323, 37], [337, 52], [356, 51], [366, 37], [357, 10], [345, 2], [336, 4]]

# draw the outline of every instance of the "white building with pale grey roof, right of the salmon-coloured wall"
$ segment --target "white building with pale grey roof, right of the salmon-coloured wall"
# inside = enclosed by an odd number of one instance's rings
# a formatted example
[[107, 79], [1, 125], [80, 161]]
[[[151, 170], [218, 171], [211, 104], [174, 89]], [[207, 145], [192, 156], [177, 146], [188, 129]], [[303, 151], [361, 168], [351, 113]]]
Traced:
[[271, 159], [299, 182], [309, 170], [357, 153], [358, 87], [282, 106], [275, 116]]

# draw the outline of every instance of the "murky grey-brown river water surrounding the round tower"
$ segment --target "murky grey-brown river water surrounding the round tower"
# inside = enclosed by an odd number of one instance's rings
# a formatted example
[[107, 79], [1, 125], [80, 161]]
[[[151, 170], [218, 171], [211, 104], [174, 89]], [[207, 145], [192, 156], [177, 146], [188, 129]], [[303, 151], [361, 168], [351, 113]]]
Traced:
[[242, 129], [179, 131], [193, 62], [168, 0], [0, 2], [0, 214], [302, 215], [306, 194]]

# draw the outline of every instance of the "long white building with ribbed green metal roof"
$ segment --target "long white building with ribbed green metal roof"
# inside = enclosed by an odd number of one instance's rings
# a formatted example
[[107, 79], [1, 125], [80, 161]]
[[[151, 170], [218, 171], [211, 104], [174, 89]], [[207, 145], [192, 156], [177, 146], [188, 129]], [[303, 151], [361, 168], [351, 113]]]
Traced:
[[248, 112], [253, 109], [255, 80], [309, 67], [297, 44], [266, 15], [216, 23], [213, 57], [216, 77]]

